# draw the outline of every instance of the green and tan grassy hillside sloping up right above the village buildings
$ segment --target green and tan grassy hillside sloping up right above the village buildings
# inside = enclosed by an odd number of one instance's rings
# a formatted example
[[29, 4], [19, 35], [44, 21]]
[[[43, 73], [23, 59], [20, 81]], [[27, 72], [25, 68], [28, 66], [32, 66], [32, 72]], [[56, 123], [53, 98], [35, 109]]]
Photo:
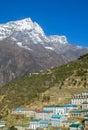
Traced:
[[[1, 87], [0, 109], [42, 106], [44, 103], [54, 103], [52, 95], [57, 98], [64, 97], [64, 94], [70, 97], [72, 93], [85, 89], [88, 89], [88, 54], [67, 65], [29, 74]], [[67, 101], [63, 100], [63, 103]]]

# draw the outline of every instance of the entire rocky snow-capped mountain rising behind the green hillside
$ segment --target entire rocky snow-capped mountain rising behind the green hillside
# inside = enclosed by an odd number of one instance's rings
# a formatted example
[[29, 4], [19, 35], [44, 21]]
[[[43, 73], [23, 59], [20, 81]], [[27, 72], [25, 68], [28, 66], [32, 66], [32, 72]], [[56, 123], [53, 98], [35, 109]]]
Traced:
[[29, 73], [66, 64], [88, 53], [65, 36], [46, 36], [30, 18], [0, 25], [0, 85]]

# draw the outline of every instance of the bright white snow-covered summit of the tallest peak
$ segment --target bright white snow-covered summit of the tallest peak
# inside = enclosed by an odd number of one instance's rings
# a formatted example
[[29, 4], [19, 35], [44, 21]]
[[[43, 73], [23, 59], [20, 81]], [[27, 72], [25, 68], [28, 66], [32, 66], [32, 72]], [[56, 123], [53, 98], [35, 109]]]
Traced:
[[[36, 41], [39, 39], [37, 35], [44, 35], [42, 28], [31, 20], [31, 18], [25, 18], [22, 20], [7, 22], [6, 24], [0, 24], [0, 40], [16, 35], [17, 32], [21, 32], [22, 35], [28, 35], [29, 37], [35, 37]], [[27, 37], [28, 37], [27, 36]]]

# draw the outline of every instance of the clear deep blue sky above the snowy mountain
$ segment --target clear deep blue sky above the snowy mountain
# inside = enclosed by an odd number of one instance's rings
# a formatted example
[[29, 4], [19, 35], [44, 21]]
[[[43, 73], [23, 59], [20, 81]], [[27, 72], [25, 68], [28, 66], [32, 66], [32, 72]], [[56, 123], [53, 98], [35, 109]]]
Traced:
[[88, 0], [0, 0], [0, 24], [30, 17], [46, 35], [88, 47]]

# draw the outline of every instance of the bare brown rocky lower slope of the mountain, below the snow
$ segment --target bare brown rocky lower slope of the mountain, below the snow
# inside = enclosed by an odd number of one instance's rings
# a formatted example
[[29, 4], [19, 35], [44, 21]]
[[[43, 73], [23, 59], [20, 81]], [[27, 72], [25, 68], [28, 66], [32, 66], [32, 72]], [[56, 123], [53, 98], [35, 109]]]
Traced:
[[[61, 55], [41, 48], [34, 53], [17, 44], [0, 41], [0, 85], [4, 85], [29, 73], [39, 72], [64, 62]], [[45, 54], [44, 54], [45, 53]]]

